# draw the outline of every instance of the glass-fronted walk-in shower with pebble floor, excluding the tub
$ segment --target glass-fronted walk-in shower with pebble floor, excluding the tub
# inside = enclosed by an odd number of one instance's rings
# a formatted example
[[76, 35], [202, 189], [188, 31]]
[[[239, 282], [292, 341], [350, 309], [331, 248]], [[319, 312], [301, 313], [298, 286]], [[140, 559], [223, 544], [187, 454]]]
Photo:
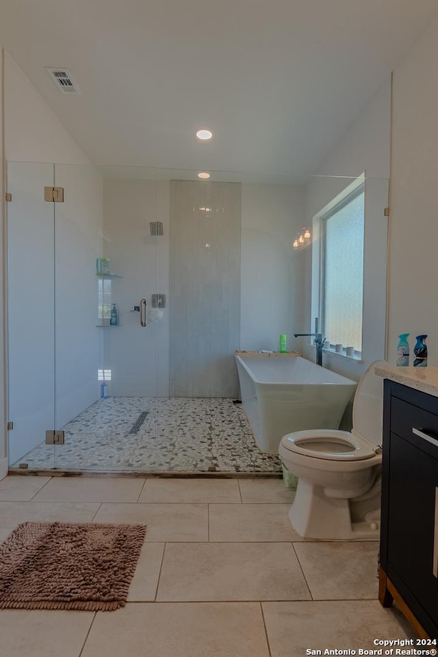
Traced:
[[7, 176], [10, 467], [278, 473], [233, 404], [234, 353], [274, 351], [279, 334], [300, 348], [291, 240], [306, 190], [318, 210], [331, 181], [38, 162]]

